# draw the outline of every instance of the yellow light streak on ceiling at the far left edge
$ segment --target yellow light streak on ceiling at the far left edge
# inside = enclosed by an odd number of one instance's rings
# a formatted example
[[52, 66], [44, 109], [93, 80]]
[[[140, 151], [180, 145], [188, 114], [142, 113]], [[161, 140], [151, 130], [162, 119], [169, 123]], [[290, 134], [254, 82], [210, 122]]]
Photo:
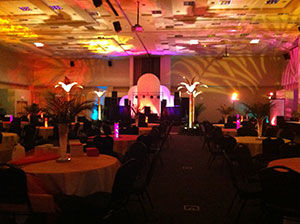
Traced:
[[6, 33], [9, 36], [18, 36], [26, 38], [38, 37], [28, 27], [21, 25], [12, 25], [9, 20], [0, 18], [0, 33]]

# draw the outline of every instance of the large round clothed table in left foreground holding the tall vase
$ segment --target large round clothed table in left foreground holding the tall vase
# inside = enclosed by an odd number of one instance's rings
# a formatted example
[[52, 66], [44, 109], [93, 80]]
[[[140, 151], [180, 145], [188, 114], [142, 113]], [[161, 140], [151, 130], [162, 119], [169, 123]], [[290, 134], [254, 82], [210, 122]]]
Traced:
[[40, 179], [51, 194], [85, 197], [95, 192], [111, 192], [120, 162], [108, 155], [72, 157], [70, 162], [48, 160], [22, 169]]

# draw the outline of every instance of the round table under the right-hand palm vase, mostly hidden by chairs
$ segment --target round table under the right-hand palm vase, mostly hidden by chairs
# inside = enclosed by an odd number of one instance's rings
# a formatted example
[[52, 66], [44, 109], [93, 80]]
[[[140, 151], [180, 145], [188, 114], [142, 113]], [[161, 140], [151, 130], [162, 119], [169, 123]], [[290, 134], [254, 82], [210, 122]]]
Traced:
[[[239, 136], [234, 137], [237, 143], [242, 143], [248, 146], [251, 156], [262, 153], [262, 141], [267, 137], [258, 138], [256, 136]], [[275, 139], [275, 138], [272, 138]], [[290, 142], [288, 139], [283, 139], [284, 143]]]

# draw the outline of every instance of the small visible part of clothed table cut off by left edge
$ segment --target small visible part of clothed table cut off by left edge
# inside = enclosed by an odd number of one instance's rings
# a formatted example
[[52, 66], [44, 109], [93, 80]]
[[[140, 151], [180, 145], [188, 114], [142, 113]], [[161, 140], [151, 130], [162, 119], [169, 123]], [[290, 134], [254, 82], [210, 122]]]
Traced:
[[2, 132], [2, 143], [0, 144], [0, 162], [5, 163], [11, 160], [12, 151], [18, 141], [19, 136], [17, 134]]

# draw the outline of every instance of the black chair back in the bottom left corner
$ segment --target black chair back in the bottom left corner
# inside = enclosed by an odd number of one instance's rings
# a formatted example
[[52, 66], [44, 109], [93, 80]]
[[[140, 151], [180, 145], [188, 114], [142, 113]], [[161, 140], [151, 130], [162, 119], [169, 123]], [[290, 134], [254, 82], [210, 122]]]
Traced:
[[29, 211], [31, 211], [25, 172], [13, 165], [1, 163], [0, 179], [0, 203], [11, 205], [27, 204]]

